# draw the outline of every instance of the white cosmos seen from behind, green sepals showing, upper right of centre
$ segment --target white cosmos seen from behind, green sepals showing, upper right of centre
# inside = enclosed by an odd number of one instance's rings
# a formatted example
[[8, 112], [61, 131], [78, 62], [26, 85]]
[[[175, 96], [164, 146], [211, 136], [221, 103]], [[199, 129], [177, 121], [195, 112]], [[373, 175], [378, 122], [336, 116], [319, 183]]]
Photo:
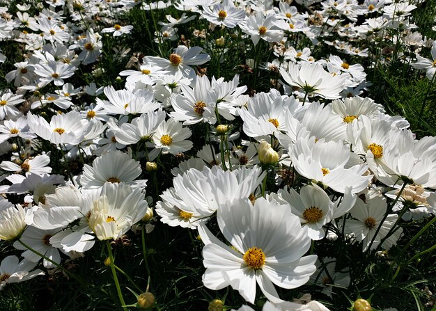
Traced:
[[332, 77], [321, 65], [316, 63], [303, 63], [289, 65], [288, 72], [280, 68], [281, 77], [290, 86], [302, 88], [302, 91], [310, 95], [319, 95], [327, 99], [340, 98], [344, 88], [345, 77]]

